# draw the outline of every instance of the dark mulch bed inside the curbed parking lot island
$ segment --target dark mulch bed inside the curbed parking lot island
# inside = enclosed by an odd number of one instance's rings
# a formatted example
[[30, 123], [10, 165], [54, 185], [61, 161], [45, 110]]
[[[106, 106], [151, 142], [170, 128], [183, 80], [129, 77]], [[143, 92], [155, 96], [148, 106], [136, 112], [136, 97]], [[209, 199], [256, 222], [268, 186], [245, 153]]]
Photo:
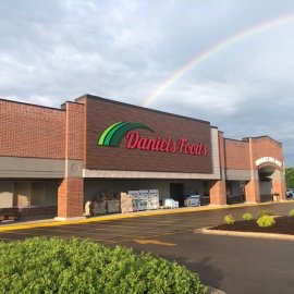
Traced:
[[235, 221], [232, 224], [220, 224], [211, 230], [221, 231], [238, 231], [238, 232], [259, 232], [259, 233], [275, 233], [294, 235], [294, 218], [293, 217], [278, 217], [274, 218], [275, 224], [271, 226], [258, 226], [256, 219]]

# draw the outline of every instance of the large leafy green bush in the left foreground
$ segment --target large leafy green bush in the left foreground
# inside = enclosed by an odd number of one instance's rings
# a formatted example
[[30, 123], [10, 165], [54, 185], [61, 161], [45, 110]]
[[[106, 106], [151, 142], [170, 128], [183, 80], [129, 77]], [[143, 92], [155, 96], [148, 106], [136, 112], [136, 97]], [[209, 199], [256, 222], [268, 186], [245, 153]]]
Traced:
[[81, 240], [0, 242], [0, 293], [206, 293], [176, 262]]

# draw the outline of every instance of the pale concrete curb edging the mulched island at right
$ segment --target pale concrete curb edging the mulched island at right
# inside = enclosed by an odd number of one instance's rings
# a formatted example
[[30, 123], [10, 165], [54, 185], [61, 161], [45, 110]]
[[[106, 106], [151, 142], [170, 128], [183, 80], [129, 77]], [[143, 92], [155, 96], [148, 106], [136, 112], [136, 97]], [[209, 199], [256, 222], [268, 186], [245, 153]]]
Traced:
[[221, 236], [241, 236], [241, 237], [294, 241], [294, 235], [273, 234], [273, 233], [255, 233], [255, 232], [237, 232], [237, 231], [221, 231], [221, 230], [210, 230], [210, 228], [212, 228], [212, 226], [197, 229], [194, 231], [194, 233], [208, 234], [208, 235], [221, 235]]

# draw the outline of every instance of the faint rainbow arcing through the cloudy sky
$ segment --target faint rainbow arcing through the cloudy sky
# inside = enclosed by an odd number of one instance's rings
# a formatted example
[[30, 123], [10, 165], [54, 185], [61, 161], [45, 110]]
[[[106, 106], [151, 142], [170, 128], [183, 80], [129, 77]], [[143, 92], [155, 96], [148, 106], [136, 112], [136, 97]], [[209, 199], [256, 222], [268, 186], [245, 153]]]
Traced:
[[197, 66], [201, 62], [206, 61], [210, 57], [219, 53], [220, 51], [226, 49], [228, 47], [242, 41], [243, 39], [247, 37], [252, 37], [254, 35], [260, 34], [262, 32], [266, 32], [268, 29], [271, 29], [273, 27], [282, 26], [289, 23], [294, 22], [294, 13], [286, 14], [264, 23], [260, 23], [256, 26], [249, 27], [237, 35], [234, 35], [225, 40], [222, 40], [218, 42], [216, 46], [210, 47], [208, 50], [200, 52], [199, 54], [196, 54], [189, 61], [187, 61], [184, 65], [182, 65], [180, 69], [177, 69], [175, 72], [173, 72], [171, 75], [169, 75], [166, 79], [163, 79], [142, 102], [143, 107], [148, 107], [151, 105], [158, 96], [166, 90], [169, 86], [171, 86], [177, 78], [183, 76], [186, 72], [188, 72], [191, 69]]

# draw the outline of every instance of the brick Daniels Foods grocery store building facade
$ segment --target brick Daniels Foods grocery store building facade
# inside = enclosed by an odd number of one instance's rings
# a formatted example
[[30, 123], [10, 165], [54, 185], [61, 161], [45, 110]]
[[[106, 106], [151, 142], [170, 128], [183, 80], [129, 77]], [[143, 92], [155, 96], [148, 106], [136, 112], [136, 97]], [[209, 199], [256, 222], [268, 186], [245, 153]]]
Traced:
[[0, 100], [0, 211], [79, 218], [105, 192], [203, 204], [285, 198], [282, 144], [224, 138], [209, 122], [85, 95], [61, 109]]

